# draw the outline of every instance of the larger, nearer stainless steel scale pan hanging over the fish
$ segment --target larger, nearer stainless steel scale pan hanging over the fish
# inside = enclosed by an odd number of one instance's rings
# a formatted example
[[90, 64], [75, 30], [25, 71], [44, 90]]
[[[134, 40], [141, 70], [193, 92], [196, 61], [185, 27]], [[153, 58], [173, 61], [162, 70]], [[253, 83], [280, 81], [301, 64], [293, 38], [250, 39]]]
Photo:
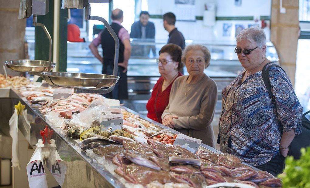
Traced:
[[42, 78], [49, 84], [78, 89], [101, 89], [113, 86], [119, 76], [75, 72], [42, 72]]

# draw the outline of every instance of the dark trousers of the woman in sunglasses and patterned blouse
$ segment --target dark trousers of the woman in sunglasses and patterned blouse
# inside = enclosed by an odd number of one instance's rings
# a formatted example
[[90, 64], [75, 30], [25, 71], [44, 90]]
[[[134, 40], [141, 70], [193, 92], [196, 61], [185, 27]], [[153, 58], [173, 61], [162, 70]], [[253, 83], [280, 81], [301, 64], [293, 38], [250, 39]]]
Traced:
[[262, 164], [262, 165], [254, 166], [254, 167], [267, 171], [268, 173], [271, 173], [274, 176], [277, 176], [278, 174], [282, 173], [285, 168], [285, 157], [281, 155], [281, 153], [279, 152], [275, 157], [273, 157], [266, 164]]

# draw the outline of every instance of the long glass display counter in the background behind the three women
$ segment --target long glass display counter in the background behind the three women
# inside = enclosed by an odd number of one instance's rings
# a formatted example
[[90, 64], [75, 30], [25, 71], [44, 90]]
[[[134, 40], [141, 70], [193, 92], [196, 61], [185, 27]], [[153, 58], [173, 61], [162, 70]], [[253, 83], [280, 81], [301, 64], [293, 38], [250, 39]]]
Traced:
[[[68, 72], [101, 73], [102, 64], [91, 53], [89, 44], [90, 42], [68, 42]], [[147, 113], [146, 103], [160, 77], [156, 58], [165, 44], [166, 41], [131, 39], [131, 58], [127, 71], [129, 100], [125, 101], [126, 107], [141, 114]], [[204, 45], [211, 52], [210, 66], [204, 72], [217, 83], [219, 98], [215, 113], [220, 113], [222, 89], [243, 69], [233, 51], [236, 41], [186, 41], [186, 45], [190, 44]], [[98, 51], [102, 54], [101, 46], [98, 47]], [[271, 41], [267, 42], [266, 57], [273, 62], [279, 62], [277, 50]], [[184, 75], [188, 75], [186, 67]]]

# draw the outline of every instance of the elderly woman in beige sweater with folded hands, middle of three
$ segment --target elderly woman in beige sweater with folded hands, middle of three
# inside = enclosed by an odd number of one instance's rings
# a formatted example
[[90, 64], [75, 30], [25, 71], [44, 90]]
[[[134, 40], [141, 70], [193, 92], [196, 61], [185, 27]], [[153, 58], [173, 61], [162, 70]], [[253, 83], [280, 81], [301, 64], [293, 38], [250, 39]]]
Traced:
[[175, 80], [162, 124], [215, 147], [213, 120], [217, 86], [203, 70], [210, 64], [210, 51], [202, 45], [189, 45], [182, 54], [189, 75]]

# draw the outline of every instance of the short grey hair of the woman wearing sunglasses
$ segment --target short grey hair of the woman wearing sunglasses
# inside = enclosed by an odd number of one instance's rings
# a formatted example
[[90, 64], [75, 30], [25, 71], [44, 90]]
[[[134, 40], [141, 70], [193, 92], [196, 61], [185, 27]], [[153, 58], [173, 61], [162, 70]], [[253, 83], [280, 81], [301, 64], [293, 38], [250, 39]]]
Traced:
[[262, 48], [264, 45], [266, 45], [266, 34], [264, 30], [259, 27], [246, 28], [236, 36], [237, 42], [242, 40], [255, 42], [259, 48]]

